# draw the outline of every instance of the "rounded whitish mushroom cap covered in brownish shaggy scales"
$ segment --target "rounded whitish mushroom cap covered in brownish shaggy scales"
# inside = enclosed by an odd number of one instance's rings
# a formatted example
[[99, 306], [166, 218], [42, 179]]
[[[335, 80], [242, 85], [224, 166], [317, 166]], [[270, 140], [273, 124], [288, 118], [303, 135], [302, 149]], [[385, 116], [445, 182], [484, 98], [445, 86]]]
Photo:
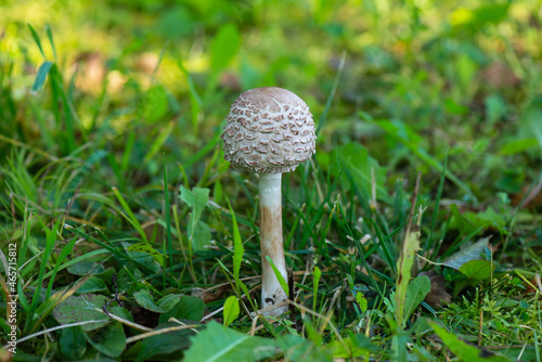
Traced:
[[278, 87], [250, 89], [225, 117], [224, 159], [255, 173], [289, 172], [315, 153], [314, 121], [307, 104]]

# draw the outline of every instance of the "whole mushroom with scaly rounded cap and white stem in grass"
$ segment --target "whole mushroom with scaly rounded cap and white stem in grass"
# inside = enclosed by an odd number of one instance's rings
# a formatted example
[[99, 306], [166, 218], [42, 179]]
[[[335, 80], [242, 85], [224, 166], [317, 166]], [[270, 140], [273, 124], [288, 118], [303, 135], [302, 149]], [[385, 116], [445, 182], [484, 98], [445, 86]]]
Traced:
[[[243, 171], [259, 173], [261, 306], [287, 299], [267, 256], [286, 280], [282, 238], [281, 177], [315, 153], [314, 121], [307, 104], [293, 92], [256, 88], [242, 93], [225, 117], [224, 159]], [[287, 306], [266, 314], [280, 315]]]

